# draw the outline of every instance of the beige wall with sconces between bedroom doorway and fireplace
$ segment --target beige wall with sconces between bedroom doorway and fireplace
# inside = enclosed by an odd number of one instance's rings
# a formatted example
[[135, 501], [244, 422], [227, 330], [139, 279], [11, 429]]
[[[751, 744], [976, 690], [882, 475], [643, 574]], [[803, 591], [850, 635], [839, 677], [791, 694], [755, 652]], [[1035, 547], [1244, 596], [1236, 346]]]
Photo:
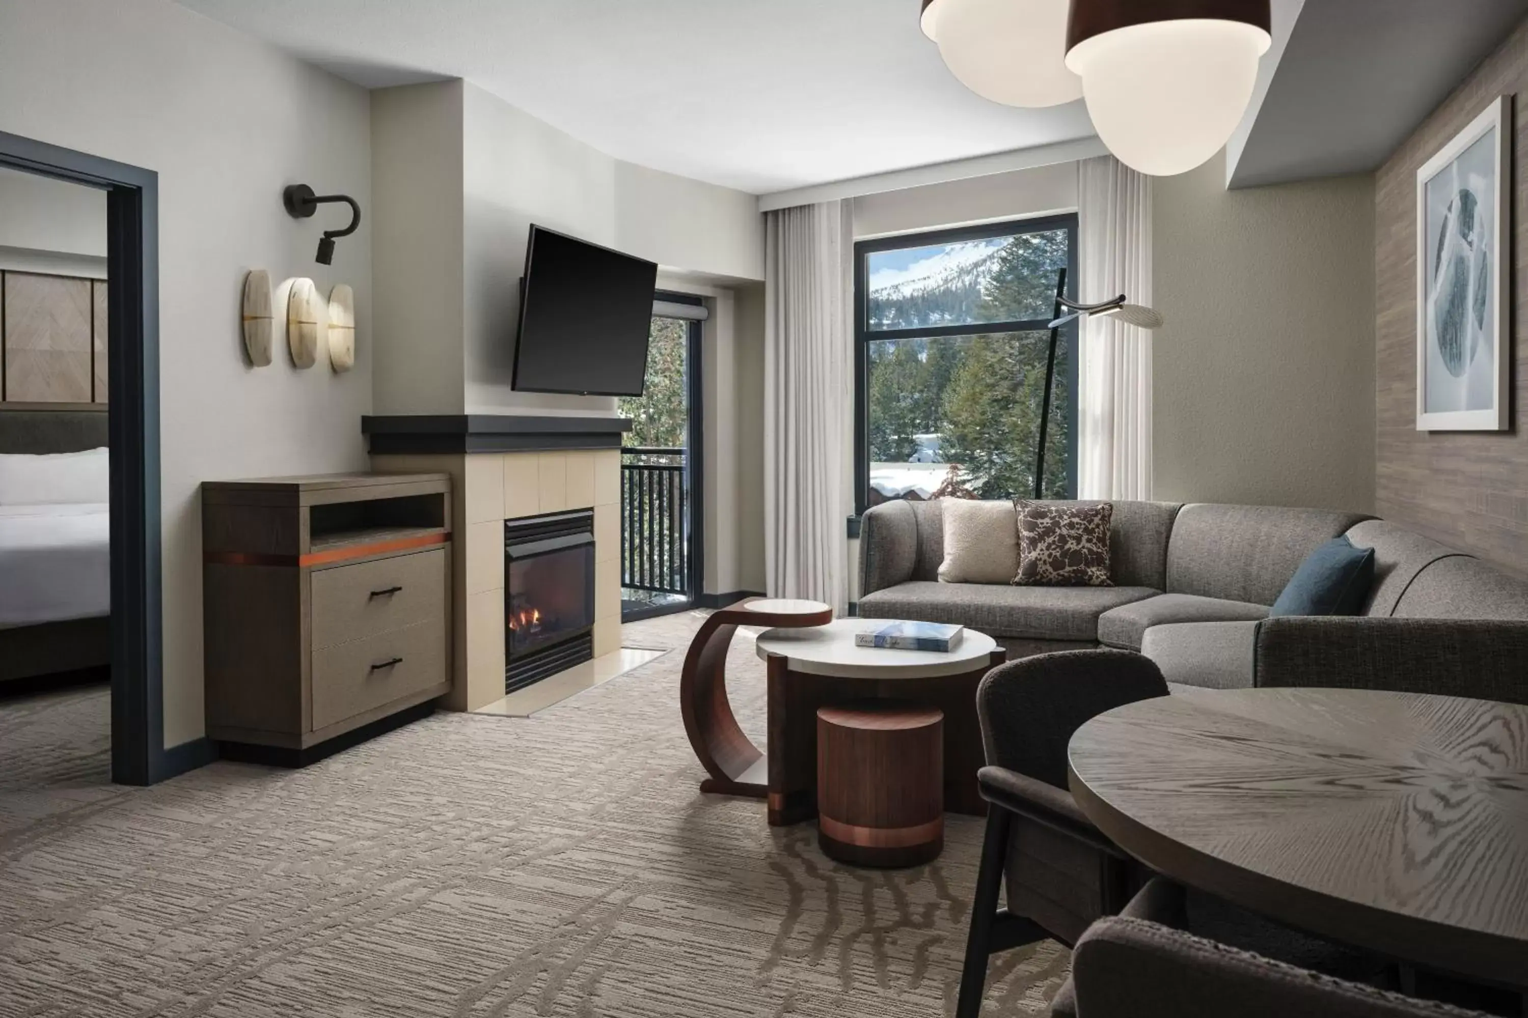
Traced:
[[[371, 408], [371, 232], [335, 264], [281, 188], [345, 191], [371, 211], [367, 93], [163, 0], [0, 5], [0, 130], [159, 174], [160, 499], [165, 745], [202, 736], [206, 479], [365, 467]], [[356, 295], [356, 368], [246, 365], [244, 273]], [[277, 342], [284, 350], [284, 336]]]

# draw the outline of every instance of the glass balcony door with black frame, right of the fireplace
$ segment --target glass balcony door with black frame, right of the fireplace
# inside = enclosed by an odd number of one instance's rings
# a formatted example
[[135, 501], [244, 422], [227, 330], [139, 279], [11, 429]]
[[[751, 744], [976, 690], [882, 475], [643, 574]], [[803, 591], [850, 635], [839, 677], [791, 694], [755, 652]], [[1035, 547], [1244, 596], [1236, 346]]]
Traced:
[[701, 563], [700, 298], [659, 293], [640, 397], [623, 397], [631, 432], [620, 450], [620, 618], [695, 604]]

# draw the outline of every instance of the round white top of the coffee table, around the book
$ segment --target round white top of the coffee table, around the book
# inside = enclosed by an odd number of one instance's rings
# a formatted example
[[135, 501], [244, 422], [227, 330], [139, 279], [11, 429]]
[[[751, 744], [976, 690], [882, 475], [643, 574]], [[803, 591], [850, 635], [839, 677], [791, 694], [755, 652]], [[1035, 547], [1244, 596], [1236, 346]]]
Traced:
[[790, 659], [792, 672], [847, 679], [927, 679], [966, 675], [987, 662], [998, 641], [975, 629], [961, 633], [949, 653], [856, 647], [854, 635], [886, 626], [888, 618], [836, 618], [810, 629], [767, 629], [758, 636], [761, 659], [772, 653]]

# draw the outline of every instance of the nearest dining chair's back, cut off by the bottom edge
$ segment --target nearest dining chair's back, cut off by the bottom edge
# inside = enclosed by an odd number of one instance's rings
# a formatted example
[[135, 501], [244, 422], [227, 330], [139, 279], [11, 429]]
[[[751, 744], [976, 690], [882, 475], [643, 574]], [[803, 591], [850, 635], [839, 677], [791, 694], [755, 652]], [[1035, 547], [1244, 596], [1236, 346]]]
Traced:
[[1181, 929], [1184, 893], [1154, 878], [1077, 939], [1051, 1018], [1488, 1018], [1322, 975]]

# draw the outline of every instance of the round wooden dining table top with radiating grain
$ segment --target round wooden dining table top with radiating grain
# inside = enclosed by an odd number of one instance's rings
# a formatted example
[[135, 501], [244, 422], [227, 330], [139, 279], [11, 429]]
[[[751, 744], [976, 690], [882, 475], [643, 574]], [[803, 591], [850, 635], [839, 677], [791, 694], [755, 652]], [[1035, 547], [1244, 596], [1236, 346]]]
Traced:
[[1528, 707], [1187, 688], [1079, 728], [1068, 778], [1103, 833], [1180, 884], [1528, 984]]

